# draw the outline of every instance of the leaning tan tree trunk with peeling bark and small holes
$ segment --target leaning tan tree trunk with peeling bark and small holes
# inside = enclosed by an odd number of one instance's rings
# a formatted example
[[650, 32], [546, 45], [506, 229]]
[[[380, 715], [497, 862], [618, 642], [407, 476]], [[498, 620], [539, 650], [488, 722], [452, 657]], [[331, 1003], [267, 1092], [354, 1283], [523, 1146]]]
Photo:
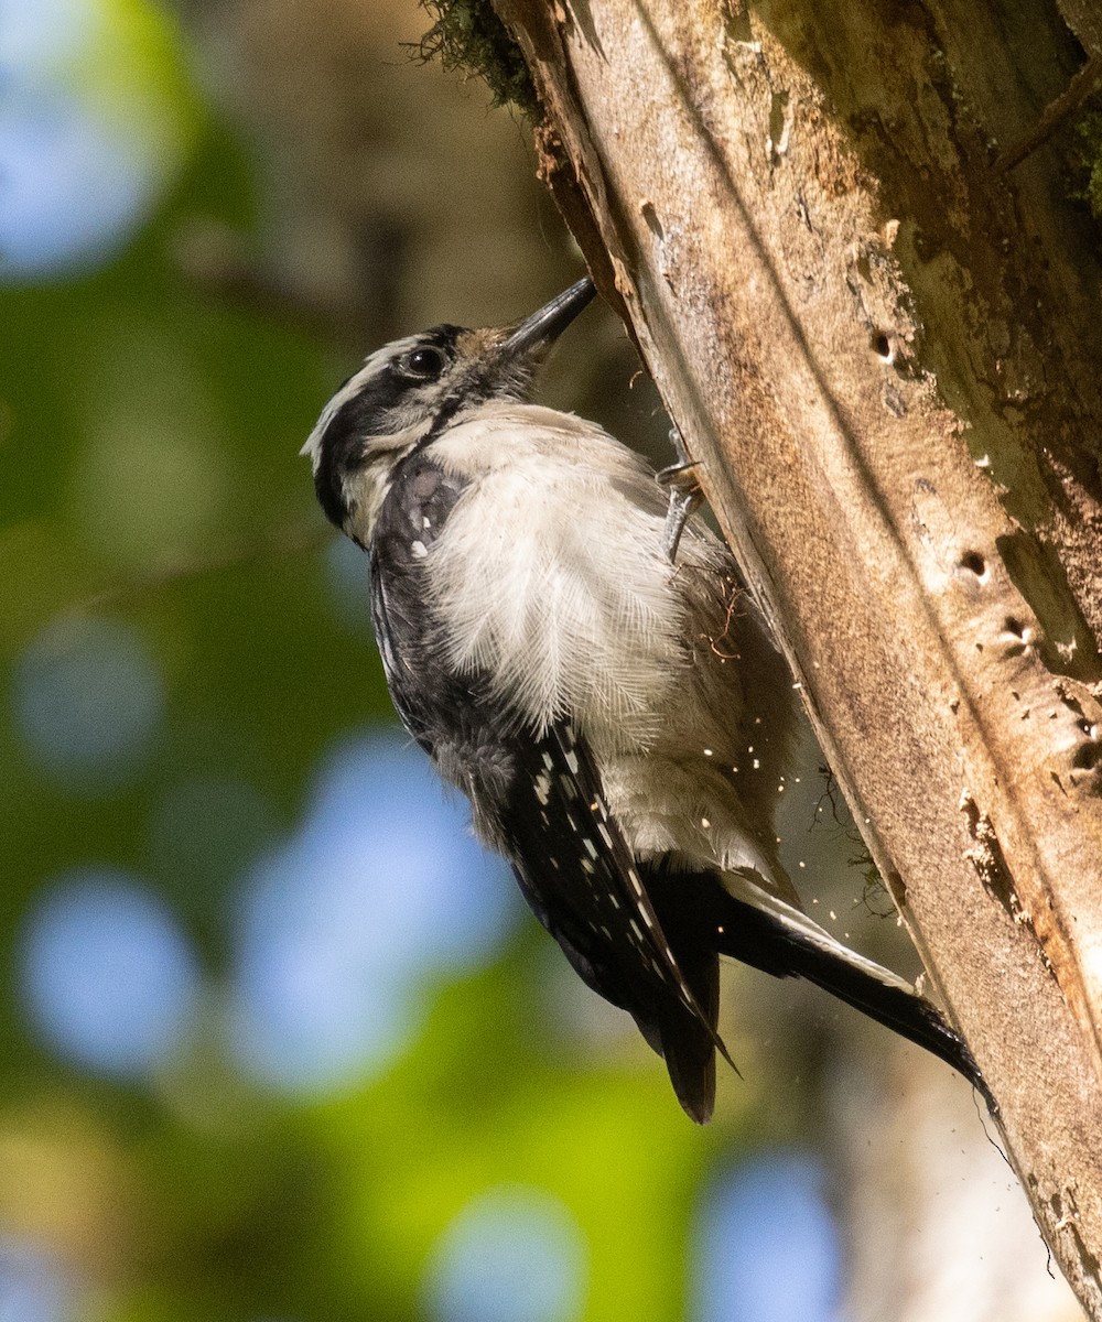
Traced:
[[1056, 147], [999, 164], [1082, 53], [1040, 0], [496, 3], [552, 188], [1102, 1318], [1098, 234]]

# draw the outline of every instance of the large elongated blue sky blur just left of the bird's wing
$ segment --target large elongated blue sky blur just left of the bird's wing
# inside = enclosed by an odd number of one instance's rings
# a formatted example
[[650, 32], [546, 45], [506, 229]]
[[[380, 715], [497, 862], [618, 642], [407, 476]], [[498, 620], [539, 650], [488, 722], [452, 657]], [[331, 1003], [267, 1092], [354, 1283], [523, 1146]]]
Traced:
[[319, 768], [300, 830], [245, 880], [237, 1058], [292, 1092], [382, 1068], [433, 981], [492, 957], [515, 891], [405, 734], [349, 739]]

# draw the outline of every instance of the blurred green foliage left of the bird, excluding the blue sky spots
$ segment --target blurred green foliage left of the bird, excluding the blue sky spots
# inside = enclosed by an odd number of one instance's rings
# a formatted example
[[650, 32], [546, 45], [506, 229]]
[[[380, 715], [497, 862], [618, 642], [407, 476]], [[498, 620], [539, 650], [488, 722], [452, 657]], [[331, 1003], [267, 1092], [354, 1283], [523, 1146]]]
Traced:
[[[585, 1236], [585, 1317], [679, 1317], [696, 1190], [745, 1109], [702, 1134], [634, 1036], [557, 1042], [534, 923], [437, 985], [417, 1040], [370, 1083], [280, 1099], [221, 1046], [242, 867], [294, 828], [332, 740], [390, 719], [366, 632], [332, 609], [331, 534], [298, 457], [339, 354], [176, 260], [196, 215], [247, 231], [254, 193], [242, 144], [208, 116], [112, 263], [0, 292], [0, 1233], [70, 1269], [77, 1315], [98, 1322], [418, 1318], [456, 1212], [530, 1185]], [[164, 685], [116, 788], [58, 779], [16, 719], [26, 649], [81, 619], [136, 628]], [[245, 785], [247, 812], [228, 828], [200, 805], [165, 843], [165, 802], [196, 777]], [[82, 1073], [29, 1030], [28, 910], [86, 863], [149, 878], [204, 960], [209, 1003], [148, 1084]]]

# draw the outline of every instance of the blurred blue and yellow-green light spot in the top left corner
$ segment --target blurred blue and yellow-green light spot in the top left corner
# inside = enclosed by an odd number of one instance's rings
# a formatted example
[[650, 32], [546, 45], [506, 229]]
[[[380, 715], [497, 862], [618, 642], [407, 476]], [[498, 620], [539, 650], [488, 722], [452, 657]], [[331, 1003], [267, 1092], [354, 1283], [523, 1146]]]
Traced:
[[167, 11], [5, 0], [0, 17], [0, 282], [118, 253], [179, 178], [197, 103]]

